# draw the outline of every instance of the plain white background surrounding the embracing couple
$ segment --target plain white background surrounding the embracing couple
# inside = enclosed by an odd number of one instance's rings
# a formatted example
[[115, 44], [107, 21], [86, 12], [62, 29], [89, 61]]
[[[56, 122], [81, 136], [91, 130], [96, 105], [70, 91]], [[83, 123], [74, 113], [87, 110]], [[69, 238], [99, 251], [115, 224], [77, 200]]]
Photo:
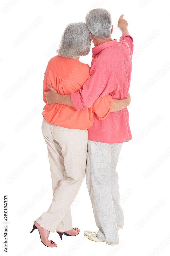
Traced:
[[[15, 3], [3, 0], [0, 4], [1, 251], [3, 198], [8, 195], [8, 255], [169, 255], [168, 1], [144, 0], [143, 5], [140, 4], [142, 0], [12, 2]], [[65, 27], [71, 22], [84, 22], [86, 13], [96, 7], [111, 13], [112, 39], [119, 40], [121, 36], [117, 29], [121, 14], [128, 21], [128, 30], [134, 39], [129, 90], [132, 101], [128, 107], [133, 140], [124, 143], [117, 166], [125, 223], [124, 228], [118, 230], [119, 246], [95, 243], [84, 237], [85, 230], [98, 230], [84, 180], [72, 205], [73, 225], [80, 228], [80, 234], [64, 236], [60, 241], [57, 233], [50, 233], [50, 239], [57, 243], [57, 247], [51, 249], [41, 243], [37, 230], [30, 234], [34, 220], [47, 211], [52, 200], [47, 147], [41, 133], [44, 72], [49, 59], [56, 55], [58, 46], [54, 45], [60, 41]], [[39, 23], [35, 26], [38, 18]], [[34, 24], [32, 29], [31, 24]], [[26, 30], [29, 34], [15, 44], [17, 37]], [[90, 65], [91, 52], [80, 60]], [[29, 69], [32, 74], [27, 78]], [[22, 76], [26, 79], [24, 82]], [[154, 81], [154, 77], [157, 80]], [[17, 83], [20, 83], [18, 87]], [[143, 91], [145, 87], [148, 89]], [[29, 121], [28, 116], [31, 116]], [[28, 122], [17, 129], [24, 119]], [[30, 162], [31, 154], [34, 159], [24, 167], [25, 161]], [[21, 167], [22, 171], [17, 174]], [[44, 192], [43, 188], [47, 190]]]

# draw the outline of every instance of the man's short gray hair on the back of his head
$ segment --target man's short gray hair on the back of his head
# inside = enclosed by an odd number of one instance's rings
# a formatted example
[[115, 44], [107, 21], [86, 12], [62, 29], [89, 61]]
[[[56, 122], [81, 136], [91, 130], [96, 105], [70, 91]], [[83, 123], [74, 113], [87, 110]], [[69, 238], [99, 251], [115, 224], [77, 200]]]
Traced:
[[111, 38], [112, 18], [106, 9], [93, 9], [86, 14], [85, 22], [95, 39]]

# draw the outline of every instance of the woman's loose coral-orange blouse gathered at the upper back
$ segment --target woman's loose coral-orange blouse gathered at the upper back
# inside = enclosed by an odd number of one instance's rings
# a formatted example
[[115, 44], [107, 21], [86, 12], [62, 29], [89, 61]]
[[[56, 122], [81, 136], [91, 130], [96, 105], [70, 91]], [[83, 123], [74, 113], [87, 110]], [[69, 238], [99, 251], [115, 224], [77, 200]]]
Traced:
[[[90, 74], [88, 64], [77, 59], [67, 59], [54, 56], [48, 62], [43, 81], [43, 100], [46, 103], [45, 92], [49, 91], [47, 83], [57, 90], [59, 94], [71, 94], [82, 89]], [[93, 95], [91, 95], [93, 97]], [[112, 96], [110, 94], [98, 98], [87, 109], [77, 111], [74, 107], [62, 104], [45, 105], [42, 115], [51, 124], [61, 127], [86, 130], [93, 125], [93, 113], [102, 120], [112, 109]]]

